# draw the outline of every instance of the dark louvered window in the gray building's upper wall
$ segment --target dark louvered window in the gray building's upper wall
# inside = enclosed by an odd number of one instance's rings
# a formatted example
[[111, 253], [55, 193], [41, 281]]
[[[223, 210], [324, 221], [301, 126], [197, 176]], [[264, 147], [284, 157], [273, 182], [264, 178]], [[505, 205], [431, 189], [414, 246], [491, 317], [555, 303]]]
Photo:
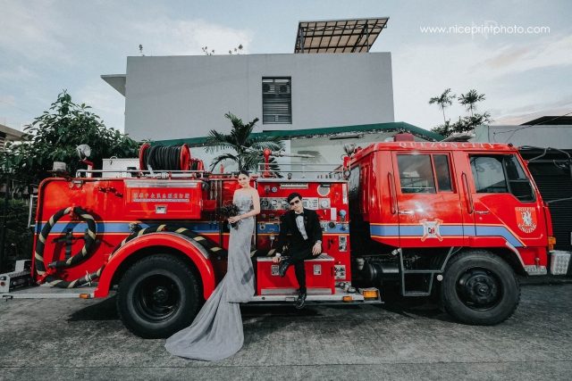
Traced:
[[262, 123], [292, 124], [291, 77], [263, 77]]

